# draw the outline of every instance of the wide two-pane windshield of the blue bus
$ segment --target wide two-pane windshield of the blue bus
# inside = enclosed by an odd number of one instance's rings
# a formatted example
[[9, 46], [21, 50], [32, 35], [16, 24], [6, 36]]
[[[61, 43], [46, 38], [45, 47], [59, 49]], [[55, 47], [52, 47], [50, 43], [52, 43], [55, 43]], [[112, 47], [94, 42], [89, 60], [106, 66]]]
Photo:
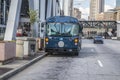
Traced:
[[77, 36], [79, 25], [73, 23], [47, 23], [46, 34], [48, 36]]

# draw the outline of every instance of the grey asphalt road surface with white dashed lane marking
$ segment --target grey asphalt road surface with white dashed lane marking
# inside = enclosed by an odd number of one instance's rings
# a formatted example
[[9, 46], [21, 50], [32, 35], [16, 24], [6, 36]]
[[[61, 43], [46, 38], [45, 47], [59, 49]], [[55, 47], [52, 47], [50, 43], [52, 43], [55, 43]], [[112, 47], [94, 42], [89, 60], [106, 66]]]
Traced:
[[85, 39], [79, 56], [48, 55], [9, 80], [120, 80], [120, 41]]

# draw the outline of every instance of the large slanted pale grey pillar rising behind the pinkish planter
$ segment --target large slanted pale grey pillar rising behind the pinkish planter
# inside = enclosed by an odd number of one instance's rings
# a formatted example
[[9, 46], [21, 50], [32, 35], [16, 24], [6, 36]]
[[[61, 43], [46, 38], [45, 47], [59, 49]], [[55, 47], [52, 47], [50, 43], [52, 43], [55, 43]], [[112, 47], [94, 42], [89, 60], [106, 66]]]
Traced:
[[19, 24], [20, 9], [22, 0], [11, 0], [8, 21], [5, 32], [5, 41], [11, 41], [16, 39], [16, 31]]

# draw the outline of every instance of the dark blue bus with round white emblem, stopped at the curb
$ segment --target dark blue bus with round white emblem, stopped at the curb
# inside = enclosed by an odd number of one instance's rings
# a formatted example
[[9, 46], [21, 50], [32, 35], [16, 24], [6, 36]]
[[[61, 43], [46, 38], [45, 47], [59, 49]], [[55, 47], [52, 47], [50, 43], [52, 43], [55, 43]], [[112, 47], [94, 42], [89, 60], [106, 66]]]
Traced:
[[79, 54], [81, 49], [82, 25], [70, 16], [54, 16], [46, 19], [45, 52], [53, 54]]

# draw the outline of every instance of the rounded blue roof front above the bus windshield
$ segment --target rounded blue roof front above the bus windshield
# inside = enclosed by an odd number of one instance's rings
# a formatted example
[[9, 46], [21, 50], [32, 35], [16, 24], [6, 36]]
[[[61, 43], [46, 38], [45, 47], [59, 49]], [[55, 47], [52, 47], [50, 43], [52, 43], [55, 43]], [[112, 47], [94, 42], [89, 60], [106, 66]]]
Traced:
[[79, 23], [78, 19], [71, 16], [54, 16], [46, 20], [47, 23]]

